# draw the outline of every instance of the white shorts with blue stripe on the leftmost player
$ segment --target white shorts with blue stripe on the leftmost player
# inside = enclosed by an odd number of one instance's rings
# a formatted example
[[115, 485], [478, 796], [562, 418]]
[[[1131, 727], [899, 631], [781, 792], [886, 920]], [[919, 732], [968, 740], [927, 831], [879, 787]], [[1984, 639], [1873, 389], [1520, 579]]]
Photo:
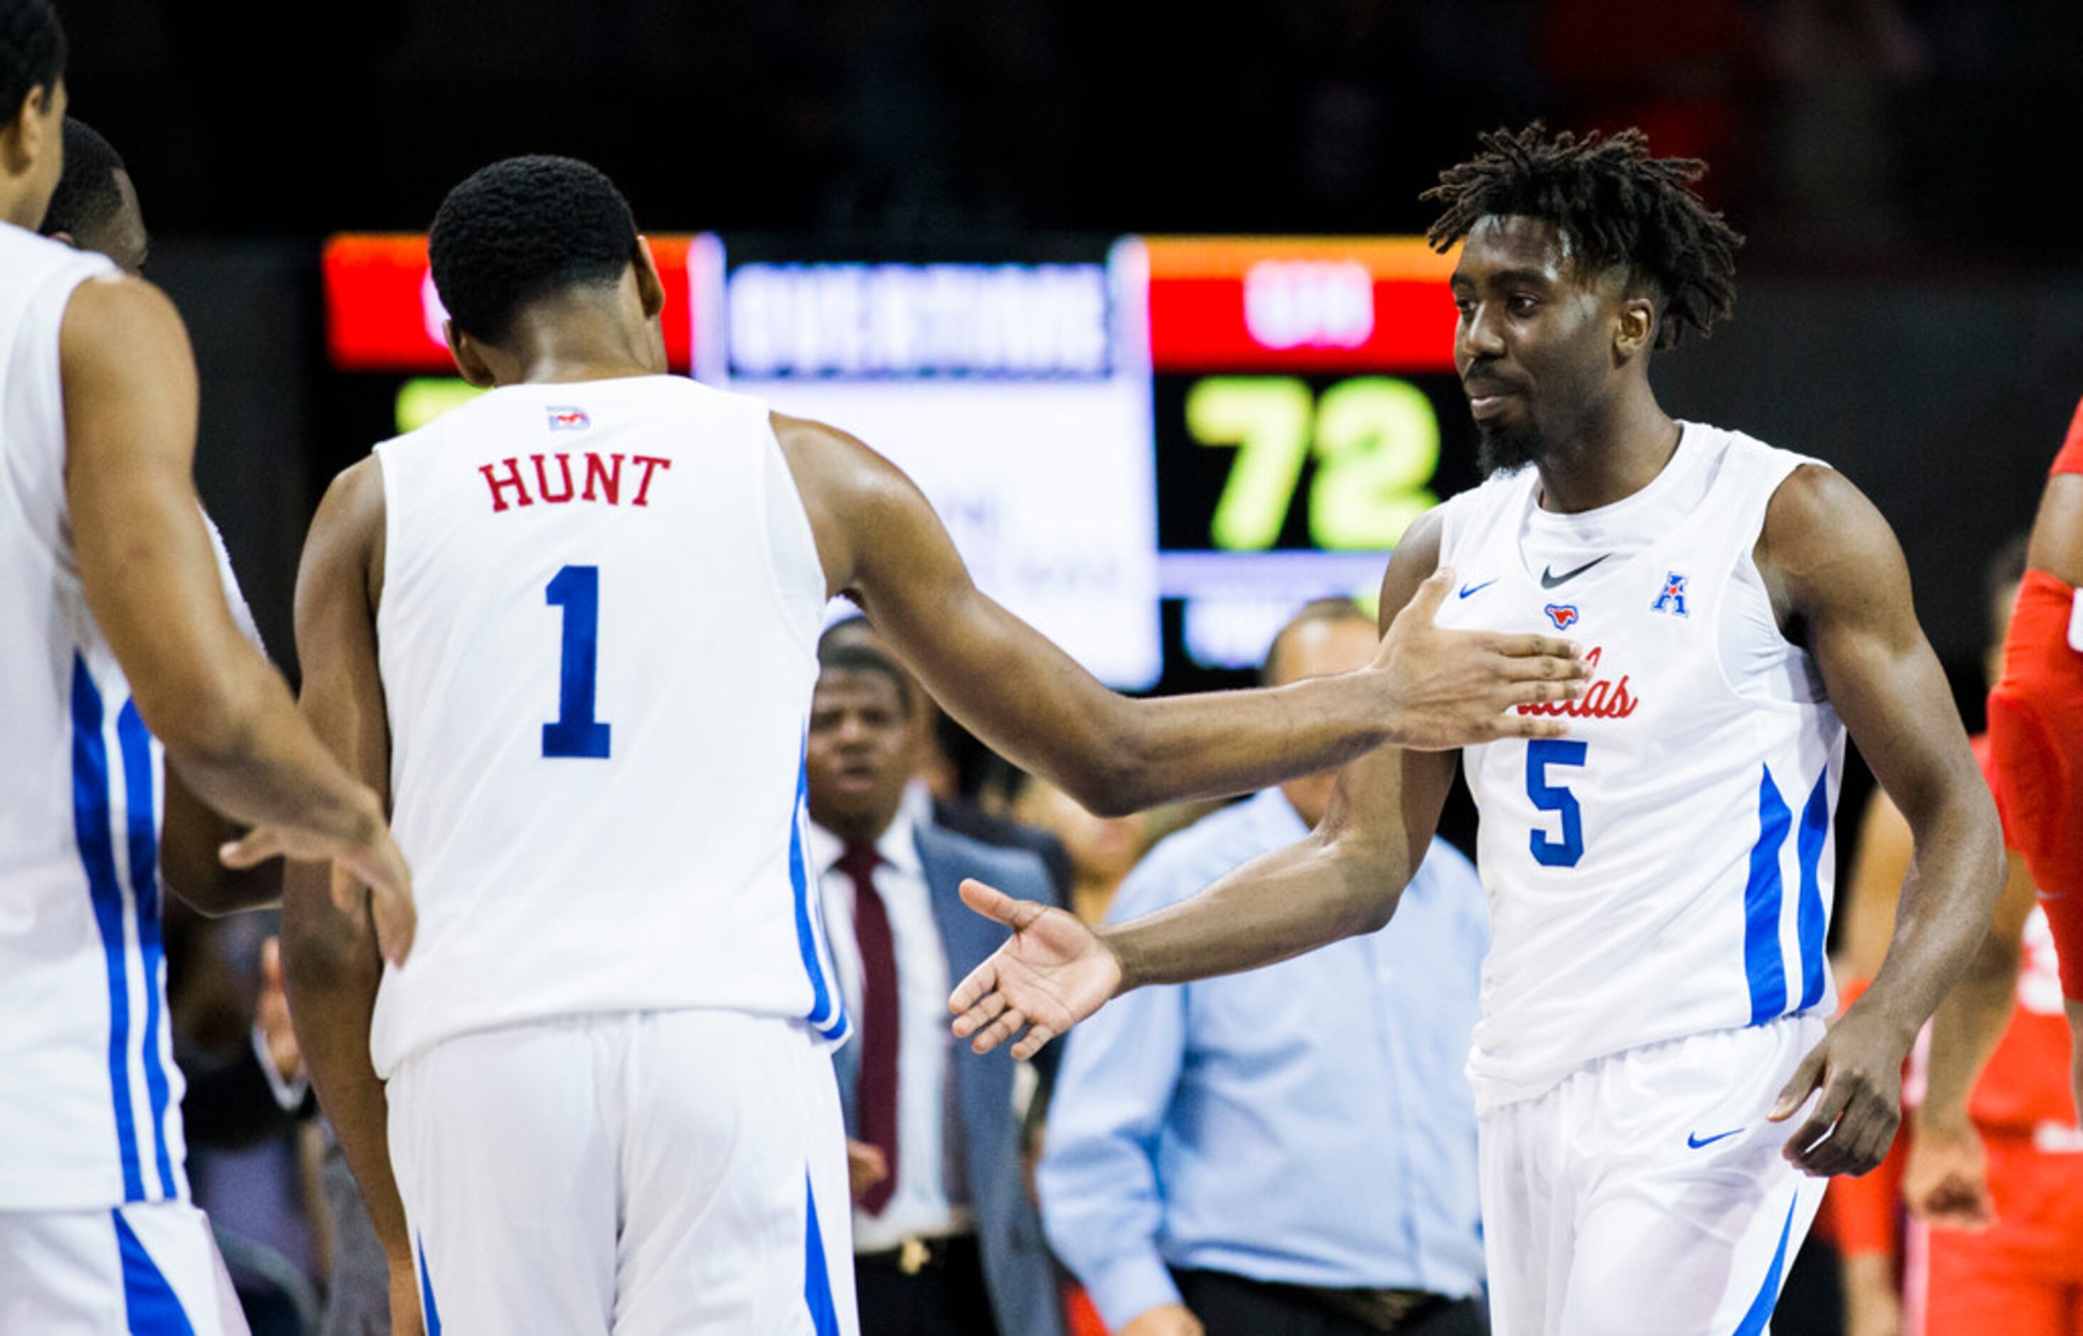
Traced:
[[246, 1336], [210, 1238], [181, 1201], [0, 1211], [0, 1332]]

